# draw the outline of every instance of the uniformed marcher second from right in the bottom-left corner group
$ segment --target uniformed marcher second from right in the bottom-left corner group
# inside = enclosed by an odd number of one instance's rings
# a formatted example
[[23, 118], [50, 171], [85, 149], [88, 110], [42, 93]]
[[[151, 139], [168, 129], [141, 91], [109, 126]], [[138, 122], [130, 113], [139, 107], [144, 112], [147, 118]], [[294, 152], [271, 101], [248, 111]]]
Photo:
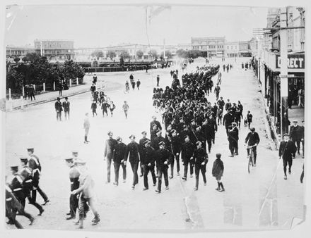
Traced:
[[[33, 172], [30, 167], [28, 167], [28, 158], [22, 157], [20, 158], [21, 168], [20, 168], [20, 175], [23, 177], [23, 192], [25, 197], [27, 197], [28, 202], [35, 206], [39, 210], [39, 215], [42, 215], [43, 208], [40, 206], [39, 203], [33, 200], [32, 191], [33, 191]], [[23, 208], [25, 208], [25, 199], [20, 201]]]

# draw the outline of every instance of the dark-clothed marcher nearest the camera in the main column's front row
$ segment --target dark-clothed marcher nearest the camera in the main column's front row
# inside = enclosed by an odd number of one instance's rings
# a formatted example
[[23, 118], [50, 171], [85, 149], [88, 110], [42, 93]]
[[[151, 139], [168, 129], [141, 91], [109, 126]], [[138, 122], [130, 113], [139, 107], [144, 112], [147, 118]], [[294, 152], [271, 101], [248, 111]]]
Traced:
[[160, 194], [162, 175], [164, 176], [165, 189], [168, 190], [168, 165], [172, 160], [172, 154], [165, 149], [165, 142], [159, 143], [159, 149], [155, 151], [155, 160], [158, 168], [158, 189], [155, 192]]

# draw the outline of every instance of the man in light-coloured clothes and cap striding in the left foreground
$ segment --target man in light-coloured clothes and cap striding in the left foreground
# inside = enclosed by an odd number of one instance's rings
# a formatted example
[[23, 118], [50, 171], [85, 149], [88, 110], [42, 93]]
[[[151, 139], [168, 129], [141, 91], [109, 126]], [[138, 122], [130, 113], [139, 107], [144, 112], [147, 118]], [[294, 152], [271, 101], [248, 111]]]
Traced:
[[80, 173], [79, 188], [74, 189], [71, 194], [79, 194], [79, 220], [76, 225], [79, 225], [79, 229], [83, 229], [83, 220], [85, 218], [86, 206], [90, 206], [90, 210], [92, 210], [94, 214], [92, 225], [97, 225], [100, 222], [100, 216], [98, 215], [98, 211], [95, 206], [94, 180], [90, 176], [90, 173], [88, 173], [88, 169], [86, 168], [86, 162], [83, 161], [81, 158], [78, 158], [75, 163], [77, 165], [78, 172]]

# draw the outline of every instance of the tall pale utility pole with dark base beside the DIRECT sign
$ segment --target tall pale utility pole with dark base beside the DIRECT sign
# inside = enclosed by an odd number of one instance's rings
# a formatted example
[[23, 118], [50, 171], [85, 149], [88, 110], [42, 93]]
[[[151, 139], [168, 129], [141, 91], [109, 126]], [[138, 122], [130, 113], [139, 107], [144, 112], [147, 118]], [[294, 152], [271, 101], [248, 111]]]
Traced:
[[288, 133], [288, 29], [287, 27], [287, 8], [281, 8], [280, 15], [280, 43], [281, 43], [281, 139], [283, 138], [283, 134]]

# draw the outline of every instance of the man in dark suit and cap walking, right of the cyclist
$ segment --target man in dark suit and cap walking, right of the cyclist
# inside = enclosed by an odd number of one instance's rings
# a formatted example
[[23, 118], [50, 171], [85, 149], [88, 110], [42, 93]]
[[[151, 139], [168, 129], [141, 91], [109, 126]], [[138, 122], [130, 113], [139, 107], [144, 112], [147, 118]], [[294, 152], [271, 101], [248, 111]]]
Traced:
[[278, 149], [278, 158], [283, 158], [284, 180], [287, 180], [287, 165], [288, 173], [291, 175], [291, 166], [293, 164], [293, 156], [295, 156], [296, 150], [297, 147], [295, 146], [295, 143], [289, 140], [289, 134], [283, 134], [283, 141]]

